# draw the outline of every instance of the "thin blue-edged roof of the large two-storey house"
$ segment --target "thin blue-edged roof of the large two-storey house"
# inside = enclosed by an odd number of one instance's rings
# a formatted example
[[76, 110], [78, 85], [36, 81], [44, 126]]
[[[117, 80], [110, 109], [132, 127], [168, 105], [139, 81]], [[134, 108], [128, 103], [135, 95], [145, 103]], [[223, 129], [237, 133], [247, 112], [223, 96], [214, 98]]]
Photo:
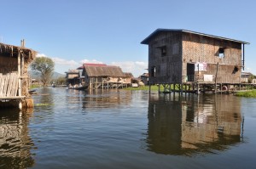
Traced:
[[148, 44], [149, 40], [156, 36], [158, 33], [163, 32], [163, 31], [182, 31], [182, 32], [187, 32], [187, 33], [191, 33], [191, 34], [196, 34], [196, 35], [201, 35], [204, 37], [212, 37], [212, 38], [217, 38], [217, 39], [222, 39], [225, 41], [231, 41], [231, 42], [240, 42], [242, 44], [250, 44], [249, 42], [243, 42], [243, 41], [239, 41], [236, 39], [230, 39], [230, 38], [226, 38], [226, 37], [218, 37], [218, 36], [213, 36], [213, 35], [209, 35], [206, 33], [200, 33], [197, 31], [189, 31], [189, 30], [183, 30], [183, 29], [157, 29], [155, 30], [153, 33], [151, 33], [148, 37], [146, 37], [143, 42], [141, 42], [142, 44]]

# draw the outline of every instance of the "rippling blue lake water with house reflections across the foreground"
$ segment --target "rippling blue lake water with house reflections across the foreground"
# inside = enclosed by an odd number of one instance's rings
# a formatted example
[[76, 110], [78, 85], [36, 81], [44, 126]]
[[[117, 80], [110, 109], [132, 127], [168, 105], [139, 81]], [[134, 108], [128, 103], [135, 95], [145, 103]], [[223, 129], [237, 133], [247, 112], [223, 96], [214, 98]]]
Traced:
[[256, 99], [61, 87], [0, 110], [0, 168], [255, 168]]

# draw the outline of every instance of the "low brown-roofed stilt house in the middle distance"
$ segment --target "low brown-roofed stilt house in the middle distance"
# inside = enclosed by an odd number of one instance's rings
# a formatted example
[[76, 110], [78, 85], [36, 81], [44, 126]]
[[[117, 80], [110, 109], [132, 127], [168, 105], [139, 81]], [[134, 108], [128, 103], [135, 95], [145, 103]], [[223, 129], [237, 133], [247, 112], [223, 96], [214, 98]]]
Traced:
[[131, 73], [124, 73], [118, 66], [84, 64], [83, 76], [90, 89], [131, 86]]

